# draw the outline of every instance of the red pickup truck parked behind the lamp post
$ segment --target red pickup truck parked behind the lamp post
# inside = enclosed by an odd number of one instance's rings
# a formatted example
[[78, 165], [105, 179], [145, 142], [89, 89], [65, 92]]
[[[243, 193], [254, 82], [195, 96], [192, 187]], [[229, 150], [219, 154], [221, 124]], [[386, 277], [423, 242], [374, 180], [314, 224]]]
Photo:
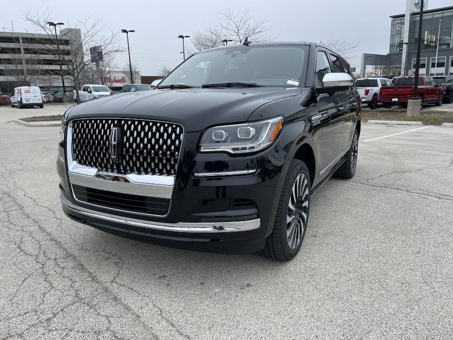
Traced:
[[[406, 105], [414, 94], [414, 77], [398, 77], [394, 86], [383, 86], [379, 91], [379, 101], [384, 107], [392, 105]], [[442, 105], [444, 93], [432, 77], [420, 76], [418, 78], [418, 96], [421, 107], [426, 103]]]

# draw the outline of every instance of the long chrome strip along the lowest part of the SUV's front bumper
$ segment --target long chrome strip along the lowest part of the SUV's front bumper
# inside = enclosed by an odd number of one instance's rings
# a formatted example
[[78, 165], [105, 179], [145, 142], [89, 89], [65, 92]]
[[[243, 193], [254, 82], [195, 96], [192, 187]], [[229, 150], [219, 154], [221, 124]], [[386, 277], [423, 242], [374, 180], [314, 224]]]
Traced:
[[91, 217], [94, 219], [102, 219], [107, 222], [121, 223], [133, 227], [162, 230], [162, 231], [173, 231], [173, 232], [191, 232], [191, 233], [224, 233], [234, 231], [247, 231], [253, 230], [260, 227], [260, 219], [251, 219], [245, 221], [236, 222], [200, 222], [200, 223], [161, 223], [154, 221], [145, 221], [141, 219], [130, 219], [121, 216], [105, 214], [98, 211], [82, 208], [72, 204], [66, 197], [60, 192], [61, 203], [69, 210]]

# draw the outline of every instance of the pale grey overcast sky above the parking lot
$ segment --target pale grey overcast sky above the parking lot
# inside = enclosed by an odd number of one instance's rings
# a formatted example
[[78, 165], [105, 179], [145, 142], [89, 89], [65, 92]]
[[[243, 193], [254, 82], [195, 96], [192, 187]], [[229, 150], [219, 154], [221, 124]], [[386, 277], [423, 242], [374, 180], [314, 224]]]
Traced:
[[[452, 4], [452, 0], [429, 0], [430, 9]], [[67, 27], [71, 22], [91, 18], [100, 19], [106, 29], [113, 31], [135, 29], [129, 36], [132, 63], [137, 63], [142, 75], [154, 75], [162, 64], [174, 67], [182, 60], [179, 34], [191, 35], [215, 25], [219, 14], [229, 7], [247, 7], [252, 15], [267, 18], [270, 35], [277, 41], [326, 41], [341, 35], [356, 40], [362, 47], [352, 66], [359, 67], [362, 52], [388, 53], [389, 16], [403, 14], [405, 0], [5, 1], [0, 27], [10, 30], [12, 20], [17, 32], [35, 31], [23, 20], [21, 11], [33, 13], [46, 7], [52, 9], [53, 21]], [[120, 67], [126, 62], [127, 52], [117, 57]]]

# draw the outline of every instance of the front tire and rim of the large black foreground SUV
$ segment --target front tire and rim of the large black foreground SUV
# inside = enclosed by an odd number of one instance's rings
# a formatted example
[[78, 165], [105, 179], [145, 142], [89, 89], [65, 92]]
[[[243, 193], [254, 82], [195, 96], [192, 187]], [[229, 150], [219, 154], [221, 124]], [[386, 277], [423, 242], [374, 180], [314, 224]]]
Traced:
[[[296, 183], [299, 185], [296, 186]], [[296, 194], [293, 195], [294, 190], [300, 193], [296, 199], [293, 198], [296, 197]], [[289, 261], [296, 256], [307, 230], [310, 192], [310, 172], [307, 166], [302, 161], [292, 160], [280, 194], [274, 228], [267, 237], [264, 248], [258, 252], [261, 256], [279, 261]]]

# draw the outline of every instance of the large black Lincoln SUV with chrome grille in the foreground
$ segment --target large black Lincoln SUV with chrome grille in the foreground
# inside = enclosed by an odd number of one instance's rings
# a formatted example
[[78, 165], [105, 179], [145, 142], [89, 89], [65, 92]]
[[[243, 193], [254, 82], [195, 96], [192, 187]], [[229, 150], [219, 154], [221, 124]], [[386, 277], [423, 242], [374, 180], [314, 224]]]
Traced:
[[66, 111], [63, 210], [128, 238], [290, 260], [310, 195], [354, 176], [360, 105], [349, 64], [320, 44], [194, 54], [156, 90]]

